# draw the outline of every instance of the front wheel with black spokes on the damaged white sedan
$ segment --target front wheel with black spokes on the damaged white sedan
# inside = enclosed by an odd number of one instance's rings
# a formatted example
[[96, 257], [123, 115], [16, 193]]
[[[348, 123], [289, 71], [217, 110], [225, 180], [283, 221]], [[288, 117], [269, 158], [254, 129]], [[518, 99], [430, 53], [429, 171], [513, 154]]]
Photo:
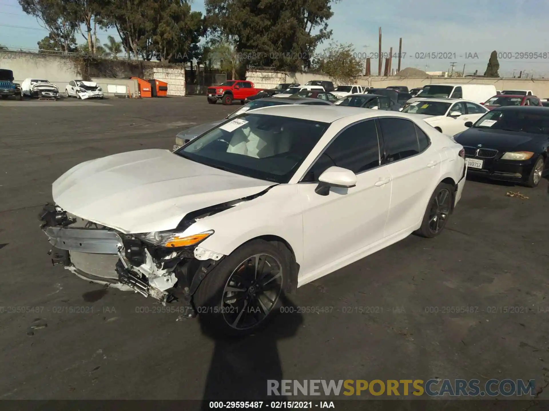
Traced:
[[277, 310], [290, 275], [287, 248], [257, 239], [226, 256], [193, 296], [203, 327], [216, 335], [248, 335]]

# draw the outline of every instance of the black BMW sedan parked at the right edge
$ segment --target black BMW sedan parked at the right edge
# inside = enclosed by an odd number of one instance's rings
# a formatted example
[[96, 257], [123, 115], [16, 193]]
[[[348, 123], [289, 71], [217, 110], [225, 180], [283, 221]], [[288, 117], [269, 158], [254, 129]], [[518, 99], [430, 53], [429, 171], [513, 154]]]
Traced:
[[467, 122], [454, 139], [464, 146], [467, 173], [535, 187], [549, 167], [549, 108], [507, 106]]

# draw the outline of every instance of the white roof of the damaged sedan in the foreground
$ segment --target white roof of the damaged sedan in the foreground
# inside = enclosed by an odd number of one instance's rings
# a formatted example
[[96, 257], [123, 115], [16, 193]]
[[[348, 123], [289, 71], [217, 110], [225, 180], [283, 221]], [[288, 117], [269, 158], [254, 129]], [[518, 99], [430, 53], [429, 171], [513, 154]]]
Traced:
[[[541, 109], [543, 107], [539, 108]], [[410, 120], [417, 119], [416, 114], [401, 113], [396, 111], [379, 111], [363, 109], [362, 107], [348, 107], [336, 105], [300, 105], [299, 107], [289, 107], [287, 105], [270, 106], [261, 107], [261, 109], [255, 109], [253, 113], [290, 118], [302, 118], [304, 120], [317, 121], [321, 123], [333, 123], [334, 121], [344, 117], [356, 117], [356, 120], [386, 116], [407, 118]]]

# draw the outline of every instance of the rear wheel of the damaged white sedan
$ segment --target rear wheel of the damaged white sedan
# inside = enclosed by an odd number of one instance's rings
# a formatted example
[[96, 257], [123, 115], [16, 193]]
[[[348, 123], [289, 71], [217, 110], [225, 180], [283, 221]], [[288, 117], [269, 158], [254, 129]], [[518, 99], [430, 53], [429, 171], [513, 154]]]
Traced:
[[415, 232], [417, 235], [433, 238], [444, 230], [452, 212], [453, 192], [450, 184], [441, 182], [436, 186], [423, 215], [421, 227]]

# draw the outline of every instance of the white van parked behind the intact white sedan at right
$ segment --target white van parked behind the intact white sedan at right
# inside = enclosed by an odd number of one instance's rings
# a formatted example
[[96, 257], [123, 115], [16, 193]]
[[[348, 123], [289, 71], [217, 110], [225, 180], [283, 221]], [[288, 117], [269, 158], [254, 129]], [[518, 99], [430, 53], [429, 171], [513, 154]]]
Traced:
[[496, 86], [494, 84], [427, 84], [416, 97], [406, 101], [406, 105], [424, 98], [464, 99], [480, 104], [495, 95]]

